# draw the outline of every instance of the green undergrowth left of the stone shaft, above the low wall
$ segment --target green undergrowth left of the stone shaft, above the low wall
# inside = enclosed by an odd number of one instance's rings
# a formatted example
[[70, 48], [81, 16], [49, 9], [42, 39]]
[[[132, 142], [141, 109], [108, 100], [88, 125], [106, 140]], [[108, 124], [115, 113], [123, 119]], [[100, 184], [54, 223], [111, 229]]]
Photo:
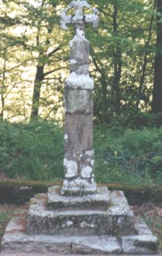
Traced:
[[63, 130], [54, 123], [1, 123], [0, 171], [11, 178], [63, 177]]

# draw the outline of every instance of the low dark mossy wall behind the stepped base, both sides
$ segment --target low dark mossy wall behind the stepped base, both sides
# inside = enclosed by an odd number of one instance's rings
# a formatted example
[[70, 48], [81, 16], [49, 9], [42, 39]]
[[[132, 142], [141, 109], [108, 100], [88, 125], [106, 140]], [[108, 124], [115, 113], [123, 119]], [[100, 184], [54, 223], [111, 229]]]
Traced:
[[[0, 179], [0, 203], [21, 204], [33, 198], [34, 194], [47, 192], [50, 186], [59, 186], [60, 182], [21, 181]], [[109, 190], [123, 191], [129, 204], [142, 204], [152, 201], [162, 203], [162, 187], [128, 186], [123, 184], [98, 184]]]

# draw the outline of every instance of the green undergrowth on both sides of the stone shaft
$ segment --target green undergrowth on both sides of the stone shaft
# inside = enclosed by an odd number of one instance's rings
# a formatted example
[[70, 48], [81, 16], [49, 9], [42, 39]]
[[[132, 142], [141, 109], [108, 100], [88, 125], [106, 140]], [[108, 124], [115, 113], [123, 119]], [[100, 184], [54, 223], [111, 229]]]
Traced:
[[[0, 123], [0, 174], [33, 181], [63, 179], [63, 136], [48, 121]], [[101, 183], [160, 185], [162, 128], [94, 128], [95, 175]]]

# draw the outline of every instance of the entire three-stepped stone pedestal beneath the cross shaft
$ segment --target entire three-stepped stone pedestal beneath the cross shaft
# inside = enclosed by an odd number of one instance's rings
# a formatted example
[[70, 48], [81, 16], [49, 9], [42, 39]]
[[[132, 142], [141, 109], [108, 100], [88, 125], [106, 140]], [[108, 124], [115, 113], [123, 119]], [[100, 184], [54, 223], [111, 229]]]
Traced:
[[88, 196], [61, 196], [60, 187], [31, 199], [29, 211], [6, 228], [3, 252], [63, 254], [152, 254], [157, 240], [133, 217], [121, 191], [98, 187]]

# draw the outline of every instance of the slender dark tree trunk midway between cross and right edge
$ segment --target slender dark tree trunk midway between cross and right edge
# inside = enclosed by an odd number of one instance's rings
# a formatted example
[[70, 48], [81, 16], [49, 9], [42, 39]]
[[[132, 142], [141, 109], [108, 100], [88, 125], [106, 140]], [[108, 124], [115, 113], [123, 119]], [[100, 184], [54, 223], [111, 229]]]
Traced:
[[[113, 13], [113, 33], [117, 36], [118, 33], [118, 8], [114, 5]], [[119, 114], [121, 111], [121, 92], [119, 87], [119, 82], [121, 79], [121, 48], [119, 46], [114, 48], [114, 80], [113, 80], [113, 95], [114, 95], [114, 112]]]

